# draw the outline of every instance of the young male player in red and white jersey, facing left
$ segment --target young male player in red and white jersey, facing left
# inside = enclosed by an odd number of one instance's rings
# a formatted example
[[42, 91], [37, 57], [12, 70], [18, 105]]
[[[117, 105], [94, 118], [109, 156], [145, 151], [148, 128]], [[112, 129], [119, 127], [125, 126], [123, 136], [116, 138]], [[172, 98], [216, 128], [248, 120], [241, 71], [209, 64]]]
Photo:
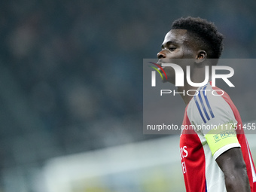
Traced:
[[[175, 63], [184, 72], [186, 66], [190, 66], [190, 80], [201, 83], [205, 80], [206, 66], [211, 69], [221, 56], [222, 40], [223, 35], [206, 20], [193, 17], [175, 20], [157, 54], [157, 64]], [[163, 68], [168, 82], [175, 84], [174, 69]], [[239, 112], [230, 97], [223, 90], [212, 87], [211, 81], [203, 87], [193, 87], [184, 78], [184, 87], [178, 87], [178, 92], [187, 93], [187, 90], [197, 90], [198, 94], [181, 94], [187, 105], [183, 125], [194, 127], [183, 130], [180, 137], [186, 190], [256, 191], [251, 152]], [[214, 129], [200, 129], [203, 125]]]

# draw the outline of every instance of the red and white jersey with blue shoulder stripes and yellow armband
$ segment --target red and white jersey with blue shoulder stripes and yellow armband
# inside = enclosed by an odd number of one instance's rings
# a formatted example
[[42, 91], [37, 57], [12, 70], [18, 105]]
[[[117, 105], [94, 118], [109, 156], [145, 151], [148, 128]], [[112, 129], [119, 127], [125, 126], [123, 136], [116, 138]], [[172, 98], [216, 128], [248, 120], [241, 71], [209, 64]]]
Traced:
[[[239, 111], [227, 93], [210, 83], [197, 91], [185, 109], [180, 137], [181, 167], [187, 192], [227, 191], [224, 173], [215, 160], [235, 147], [242, 150], [251, 191], [256, 192], [255, 167]], [[212, 133], [212, 130], [217, 131]]]

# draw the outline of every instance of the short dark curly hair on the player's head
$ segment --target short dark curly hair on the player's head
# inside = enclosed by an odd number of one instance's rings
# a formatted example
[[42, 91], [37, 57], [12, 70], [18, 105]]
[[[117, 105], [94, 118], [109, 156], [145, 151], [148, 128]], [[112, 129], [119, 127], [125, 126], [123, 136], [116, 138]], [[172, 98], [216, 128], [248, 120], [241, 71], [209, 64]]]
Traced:
[[175, 20], [172, 29], [187, 29], [188, 35], [197, 41], [197, 45], [208, 53], [208, 58], [218, 59], [223, 50], [224, 36], [218, 32], [214, 23], [200, 17], [187, 17]]

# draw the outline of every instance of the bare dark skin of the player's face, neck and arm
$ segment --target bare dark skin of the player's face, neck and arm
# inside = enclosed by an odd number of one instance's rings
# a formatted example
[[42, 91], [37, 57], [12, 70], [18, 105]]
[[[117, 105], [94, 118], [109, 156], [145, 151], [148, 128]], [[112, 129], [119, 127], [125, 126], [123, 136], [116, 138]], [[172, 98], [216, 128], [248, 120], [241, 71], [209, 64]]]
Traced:
[[[204, 80], [204, 77], [200, 75], [205, 73], [204, 66], [211, 66], [211, 63], [206, 61], [207, 51], [200, 50], [193, 41], [193, 38], [187, 34], [187, 30], [172, 29], [164, 38], [162, 50], [157, 53], [159, 59], [157, 63], [161, 66], [162, 63], [172, 63], [175, 59], [188, 59], [184, 63], [178, 63], [178, 65], [182, 69], [185, 69], [185, 66], [190, 66], [191, 81], [200, 83]], [[168, 81], [175, 84], [175, 73], [172, 67], [165, 67], [164, 70]], [[184, 81], [184, 87], [178, 87], [178, 91], [183, 90], [197, 90], [197, 87], [191, 87], [187, 81]], [[181, 94], [181, 97], [187, 105], [193, 96]], [[251, 191], [241, 148], [230, 148], [221, 154], [216, 162], [224, 172], [227, 192]]]

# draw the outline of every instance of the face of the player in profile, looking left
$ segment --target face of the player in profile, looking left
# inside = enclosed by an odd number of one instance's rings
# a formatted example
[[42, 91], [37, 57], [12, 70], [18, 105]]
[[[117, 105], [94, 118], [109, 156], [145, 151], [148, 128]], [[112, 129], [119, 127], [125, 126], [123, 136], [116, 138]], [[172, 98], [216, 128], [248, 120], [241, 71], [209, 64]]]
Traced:
[[[175, 63], [184, 70], [186, 66], [190, 66], [193, 59], [197, 57], [197, 51], [192, 48], [192, 41], [189, 40], [187, 30], [172, 29], [169, 31], [162, 44], [162, 50], [157, 53], [160, 66], [162, 63]], [[165, 67], [167, 79], [172, 84], [175, 83], [175, 72], [172, 67]]]

